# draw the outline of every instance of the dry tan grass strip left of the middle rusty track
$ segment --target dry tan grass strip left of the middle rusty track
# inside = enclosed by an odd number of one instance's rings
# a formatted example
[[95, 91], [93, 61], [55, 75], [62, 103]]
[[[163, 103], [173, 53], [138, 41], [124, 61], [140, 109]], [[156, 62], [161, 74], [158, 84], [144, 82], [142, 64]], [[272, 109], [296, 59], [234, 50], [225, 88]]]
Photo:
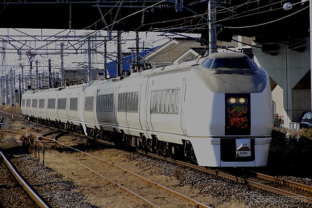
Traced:
[[[66, 153], [64, 155], [67, 155]], [[78, 153], [72, 153], [79, 161]], [[103, 208], [143, 208], [144, 204], [135, 197], [121, 191], [115, 185], [99, 178], [91, 171], [82, 168], [77, 163], [69, 160], [55, 151], [47, 151], [45, 155], [46, 166], [58, 171], [65, 180], [74, 181], [79, 186], [78, 190], [87, 196], [87, 201], [93, 205]], [[57, 160], [55, 158], [58, 158]]]

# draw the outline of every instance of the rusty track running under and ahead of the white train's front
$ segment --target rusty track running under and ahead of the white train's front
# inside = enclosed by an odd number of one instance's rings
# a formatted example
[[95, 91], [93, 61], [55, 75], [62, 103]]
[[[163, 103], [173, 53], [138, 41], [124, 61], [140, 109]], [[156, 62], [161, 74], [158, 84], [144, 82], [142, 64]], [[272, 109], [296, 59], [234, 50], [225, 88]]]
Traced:
[[278, 177], [269, 176], [269, 175], [265, 175], [262, 173], [256, 173], [256, 172], [247, 171], [247, 170], [246, 171], [240, 170], [239, 173], [237, 173], [237, 171], [236, 172], [234, 171], [232, 174], [231, 172], [210, 170], [210, 169], [198, 167], [189, 163], [172, 160], [170, 158], [164, 158], [159, 155], [145, 153], [145, 152], [142, 152], [142, 153], [151, 155], [159, 159], [164, 159], [172, 163], [191, 167], [196, 170], [208, 172], [210, 174], [214, 174], [223, 178], [227, 178], [238, 183], [250, 185], [250, 186], [257, 187], [260, 189], [265, 189], [265, 190], [268, 190], [277, 194], [281, 194], [285, 196], [286, 199], [287, 197], [289, 197], [292, 200], [296, 200], [298, 202], [307, 202], [307, 203], [312, 204], [312, 187], [311, 186], [307, 186], [307, 185], [295, 183], [292, 181], [283, 180]]

